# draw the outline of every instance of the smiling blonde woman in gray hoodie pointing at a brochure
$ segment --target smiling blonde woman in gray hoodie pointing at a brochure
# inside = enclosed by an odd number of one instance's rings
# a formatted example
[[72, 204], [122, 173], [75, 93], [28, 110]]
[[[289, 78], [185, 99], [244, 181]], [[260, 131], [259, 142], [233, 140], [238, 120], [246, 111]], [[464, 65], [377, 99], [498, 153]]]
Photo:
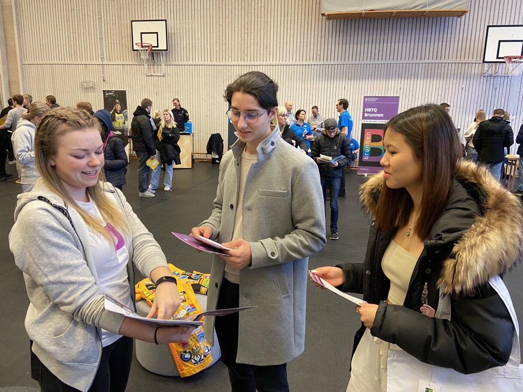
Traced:
[[123, 193], [100, 175], [100, 131], [84, 110], [56, 108], [40, 118], [35, 160], [41, 178], [18, 195], [9, 234], [30, 301], [31, 377], [43, 392], [123, 392], [131, 338], [185, 342], [192, 331], [154, 327], [104, 307], [108, 295], [134, 308], [133, 263], [156, 284], [148, 317], [170, 319], [181, 300], [162, 249]]

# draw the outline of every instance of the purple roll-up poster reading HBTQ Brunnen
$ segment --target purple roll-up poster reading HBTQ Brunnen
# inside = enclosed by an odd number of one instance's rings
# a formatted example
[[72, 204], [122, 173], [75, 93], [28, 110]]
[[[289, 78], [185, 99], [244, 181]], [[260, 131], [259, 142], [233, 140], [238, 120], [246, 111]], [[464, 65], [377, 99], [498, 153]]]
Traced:
[[400, 97], [363, 97], [358, 175], [373, 175], [382, 169], [383, 128], [399, 107]]

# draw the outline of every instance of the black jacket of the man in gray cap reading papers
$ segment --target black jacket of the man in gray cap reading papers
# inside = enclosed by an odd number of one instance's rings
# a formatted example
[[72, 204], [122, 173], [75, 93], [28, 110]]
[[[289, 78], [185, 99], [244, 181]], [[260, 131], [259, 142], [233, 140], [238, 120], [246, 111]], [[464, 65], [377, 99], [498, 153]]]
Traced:
[[[345, 155], [346, 158], [338, 160], [338, 166], [332, 167], [328, 163], [317, 162], [316, 158], [319, 158], [320, 154], [327, 155], [331, 158]], [[321, 135], [316, 137], [314, 143], [311, 145], [311, 158], [316, 161], [321, 177], [342, 177], [343, 168], [351, 163], [351, 155], [352, 151], [347, 137], [339, 131], [334, 137], [327, 136], [325, 131], [323, 131]]]

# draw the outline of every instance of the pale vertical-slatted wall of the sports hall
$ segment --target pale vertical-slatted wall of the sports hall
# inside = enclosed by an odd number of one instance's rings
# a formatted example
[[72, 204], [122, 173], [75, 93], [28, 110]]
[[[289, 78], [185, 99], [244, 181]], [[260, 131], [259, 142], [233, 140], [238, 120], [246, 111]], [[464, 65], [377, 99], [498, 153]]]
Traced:
[[[487, 25], [520, 24], [519, 0], [474, 0], [462, 18], [326, 21], [320, 2], [2, 0], [13, 7], [20, 87], [60, 105], [103, 103], [103, 89], [127, 90], [130, 112], [144, 97], [154, 109], [181, 99], [195, 126], [194, 151], [211, 133], [227, 133], [225, 86], [259, 70], [280, 85], [279, 101], [335, 117], [345, 97], [360, 128], [364, 95], [399, 95], [400, 111], [448, 102], [461, 133], [478, 109], [502, 107], [519, 126], [522, 77], [483, 76]], [[5, 16], [4, 16], [5, 19]], [[167, 19], [166, 76], [145, 76], [131, 51], [130, 20]], [[5, 32], [4, 32], [5, 33]], [[100, 45], [101, 37], [101, 45]], [[7, 45], [8, 46], [8, 45]], [[102, 56], [105, 82], [102, 78]], [[500, 66], [501, 73], [505, 65]], [[94, 80], [94, 88], [81, 88]], [[5, 97], [3, 97], [5, 100]]]

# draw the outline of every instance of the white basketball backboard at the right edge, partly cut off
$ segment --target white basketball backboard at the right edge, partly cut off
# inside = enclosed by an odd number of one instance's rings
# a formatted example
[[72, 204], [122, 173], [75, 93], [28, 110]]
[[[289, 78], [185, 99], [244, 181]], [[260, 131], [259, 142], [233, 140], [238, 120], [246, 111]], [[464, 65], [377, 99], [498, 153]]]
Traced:
[[523, 55], [523, 25], [487, 26], [483, 63], [505, 63], [505, 56]]

